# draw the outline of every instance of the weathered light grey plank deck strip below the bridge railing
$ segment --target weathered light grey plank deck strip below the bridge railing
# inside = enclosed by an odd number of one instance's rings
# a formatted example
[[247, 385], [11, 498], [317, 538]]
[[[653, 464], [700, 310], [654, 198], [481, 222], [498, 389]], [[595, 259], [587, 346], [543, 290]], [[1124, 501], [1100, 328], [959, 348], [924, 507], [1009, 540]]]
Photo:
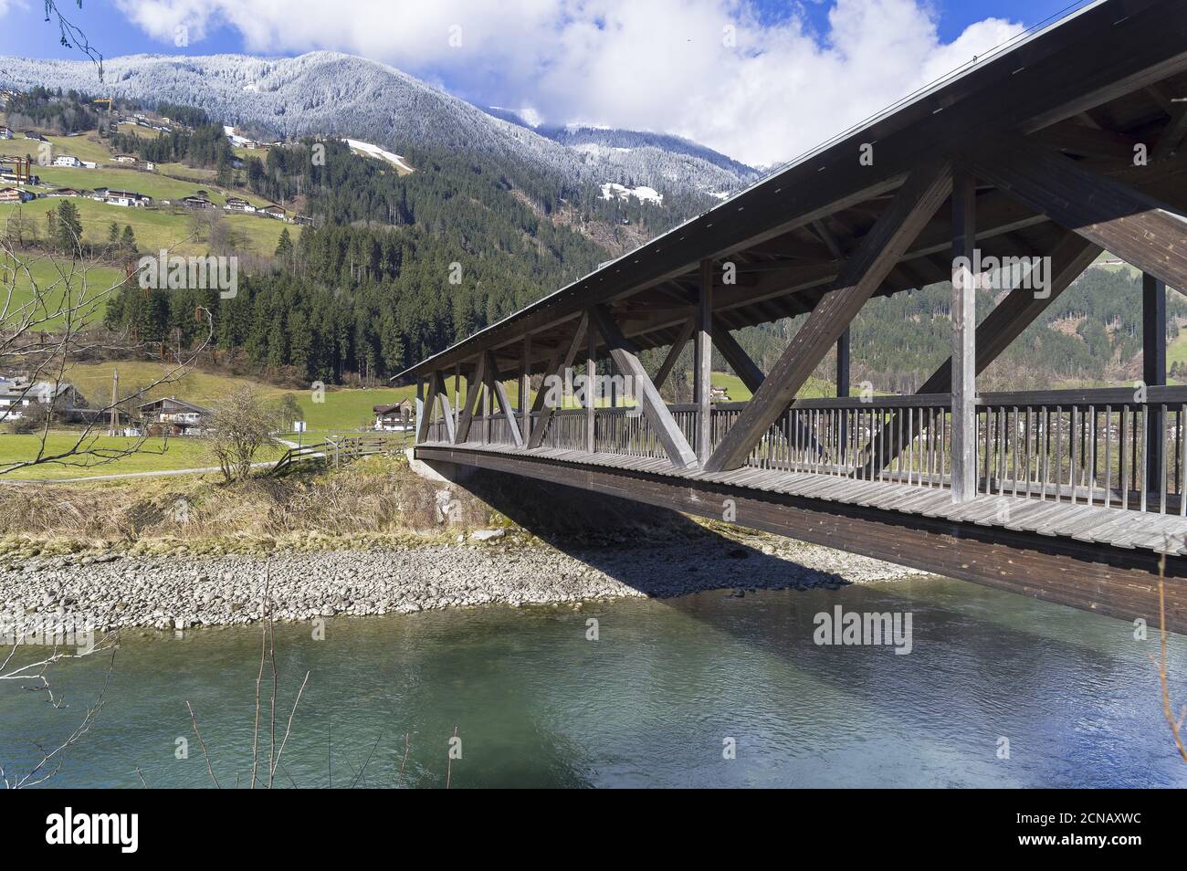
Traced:
[[958, 523], [976, 523], [1014, 532], [1037, 533], [1125, 549], [1187, 555], [1187, 517], [1136, 509], [1105, 508], [1068, 500], [1039, 500], [1009, 495], [978, 495], [970, 502], [954, 503], [952, 492], [941, 487], [919, 487], [886, 481], [852, 481], [817, 472], [742, 468], [725, 472], [703, 469], [675, 469], [666, 459], [571, 451], [556, 447], [523, 450], [514, 445], [425, 443], [421, 447], [510, 454], [516, 459], [552, 460], [573, 465], [599, 466], [646, 472], [760, 492], [823, 500], [861, 508], [920, 515]]

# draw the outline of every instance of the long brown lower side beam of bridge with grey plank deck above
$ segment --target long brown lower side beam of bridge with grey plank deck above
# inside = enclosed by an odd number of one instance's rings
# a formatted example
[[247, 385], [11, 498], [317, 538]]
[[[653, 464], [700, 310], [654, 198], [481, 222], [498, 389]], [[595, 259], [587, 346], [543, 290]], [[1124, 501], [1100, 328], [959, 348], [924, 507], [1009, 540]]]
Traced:
[[[859, 482], [823, 487], [820, 475], [744, 469], [706, 473], [662, 460], [500, 445], [420, 445], [418, 459], [509, 472], [787, 535], [1124, 621], [1159, 625], [1166, 559], [1167, 628], [1187, 631], [1187, 520], [1143, 515], [1121, 530], [1117, 509]], [[624, 463], [626, 460], [626, 463]], [[929, 498], [928, 498], [929, 496]], [[1103, 516], [1100, 513], [1105, 513]], [[1170, 543], [1168, 543], [1170, 542]], [[1166, 553], [1172, 549], [1172, 553]]]

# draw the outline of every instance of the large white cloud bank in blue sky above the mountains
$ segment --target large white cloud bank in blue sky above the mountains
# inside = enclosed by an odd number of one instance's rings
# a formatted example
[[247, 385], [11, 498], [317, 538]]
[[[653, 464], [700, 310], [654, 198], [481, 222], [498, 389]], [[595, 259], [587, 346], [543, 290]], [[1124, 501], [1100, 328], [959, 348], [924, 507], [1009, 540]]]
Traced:
[[[6, 0], [0, 0], [0, 4]], [[347, 51], [550, 123], [688, 136], [753, 164], [792, 158], [1022, 30], [986, 19], [942, 43], [927, 0], [836, 0], [813, 33], [743, 0], [116, 0], [147, 33], [248, 51]], [[726, 28], [732, 28], [728, 31]], [[732, 33], [732, 43], [728, 38]]]

